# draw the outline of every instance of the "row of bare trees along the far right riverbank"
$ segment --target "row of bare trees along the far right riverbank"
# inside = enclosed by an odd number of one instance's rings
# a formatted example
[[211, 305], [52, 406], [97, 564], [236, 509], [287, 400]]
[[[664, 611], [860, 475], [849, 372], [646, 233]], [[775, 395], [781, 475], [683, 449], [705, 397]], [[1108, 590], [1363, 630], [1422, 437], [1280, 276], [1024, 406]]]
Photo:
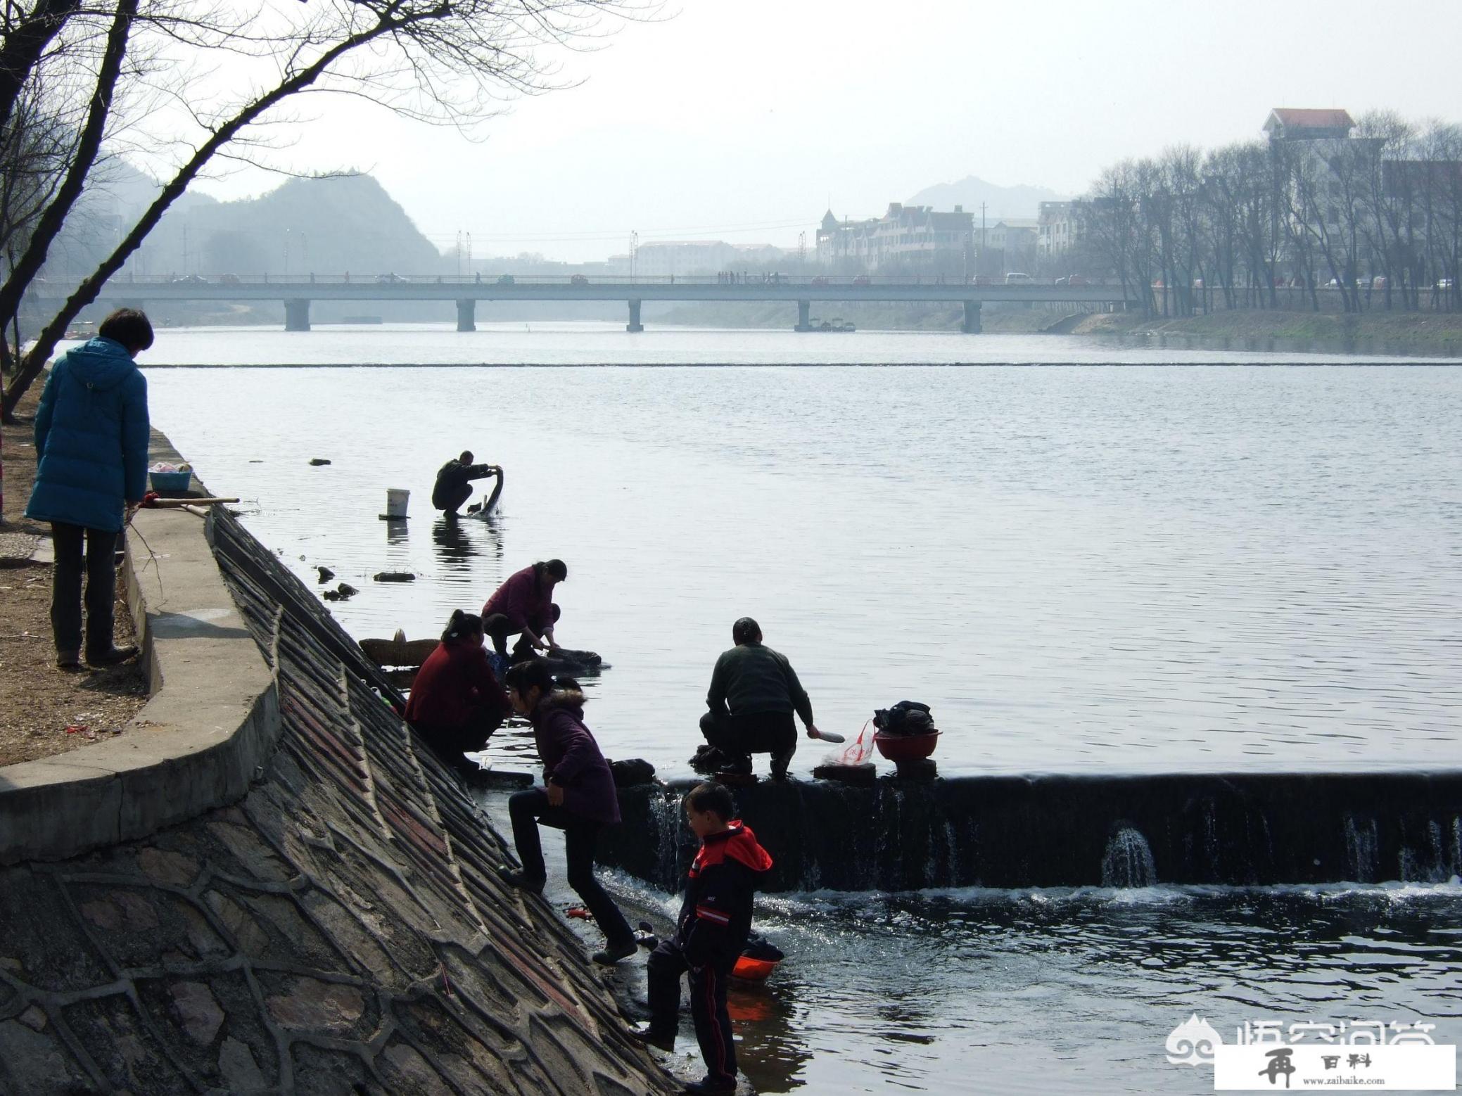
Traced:
[[1070, 266], [1148, 310], [1462, 310], [1462, 126], [1363, 115], [1348, 137], [1171, 148], [1107, 168]]

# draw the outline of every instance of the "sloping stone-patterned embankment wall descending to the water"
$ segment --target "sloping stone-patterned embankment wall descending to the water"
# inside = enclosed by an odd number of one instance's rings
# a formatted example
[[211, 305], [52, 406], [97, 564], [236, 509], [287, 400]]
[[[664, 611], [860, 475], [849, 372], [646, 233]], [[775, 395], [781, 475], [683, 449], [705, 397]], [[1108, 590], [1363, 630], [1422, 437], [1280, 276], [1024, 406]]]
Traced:
[[[151, 735], [152, 770], [120, 791], [94, 751], [57, 770], [82, 786], [50, 792], [54, 843], [32, 821], [0, 869], [0, 1092], [675, 1090], [567, 926], [497, 881], [503, 840], [314, 596], [227, 514], [209, 522], [216, 566], [202, 522], [168, 520], [146, 533], [165, 558], [135, 577], [156, 566], [175, 593], [206, 560], [228, 612], [148, 609], [158, 697], [197, 704], [170, 709], [184, 753]], [[243, 785], [256, 747], [221, 745], [240, 734], [262, 744]], [[143, 788], [159, 802], [127, 823], [118, 804]]]

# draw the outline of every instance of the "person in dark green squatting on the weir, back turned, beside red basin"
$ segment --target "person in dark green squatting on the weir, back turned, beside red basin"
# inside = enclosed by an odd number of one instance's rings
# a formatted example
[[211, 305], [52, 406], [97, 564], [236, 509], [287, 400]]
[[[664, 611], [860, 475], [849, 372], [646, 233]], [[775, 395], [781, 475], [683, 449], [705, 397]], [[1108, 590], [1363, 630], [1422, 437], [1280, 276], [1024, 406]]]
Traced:
[[813, 722], [813, 704], [787, 656], [762, 643], [762, 627], [750, 617], [731, 625], [735, 643], [716, 659], [711, 691], [700, 718], [700, 734], [730, 761], [730, 772], [750, 773], [751, 754], [772, 756], [772, 776], [785, 779], [797, 753], [801, 716], [808, 738], [822, 738]]

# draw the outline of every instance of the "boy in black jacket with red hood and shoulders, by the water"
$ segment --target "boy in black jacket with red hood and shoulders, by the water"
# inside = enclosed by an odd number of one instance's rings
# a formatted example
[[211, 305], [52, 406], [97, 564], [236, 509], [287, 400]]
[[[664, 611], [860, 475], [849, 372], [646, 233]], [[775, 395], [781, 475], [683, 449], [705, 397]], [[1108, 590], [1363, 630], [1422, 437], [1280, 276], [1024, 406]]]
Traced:
[[649, 956], [649, 1027], [633, 1035], [670, 1051], [675, 1046], [680, 976], [690, 975], [690, 1016], [706, 1059], [706, 1077], [687, 1093], [734, 1093], [735, 1046], [727, 1016], [727, 981], [751, 932], [751, 897], [772, 858], [740, 820], [731, 792], [702, 783], [687, 792], [686, 820], [700, 849], [686, 878], [675, 935]]

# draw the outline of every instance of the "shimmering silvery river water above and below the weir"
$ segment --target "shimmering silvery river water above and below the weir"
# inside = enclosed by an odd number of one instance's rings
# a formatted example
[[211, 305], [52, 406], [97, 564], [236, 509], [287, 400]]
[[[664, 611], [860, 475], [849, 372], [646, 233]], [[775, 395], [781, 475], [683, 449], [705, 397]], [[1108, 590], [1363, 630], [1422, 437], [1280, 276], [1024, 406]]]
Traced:
[[[361, 589], [332, 606], [358, 637], [431, 636], [566, 560], [558, 636], [613, 663], [589, 723], [667, 776], [743, 614], [825, 729], [931, 704], [946, 773], [1462, 757], [1456, 364], [539, 323], [164, 330], [143, 364], [215, 367], [149, 368], [156, 425], [311, 585]], [[463, 447], [507, 469], [494, 522], [430, 510]], [[791, 956], [734, 998], [763, 1092], [1211, 1090], [1164, 1057], [1190, 1013], [1230, 1040], [1462, 1038], [1455, 880], [817, 893], [759, 919]]]

